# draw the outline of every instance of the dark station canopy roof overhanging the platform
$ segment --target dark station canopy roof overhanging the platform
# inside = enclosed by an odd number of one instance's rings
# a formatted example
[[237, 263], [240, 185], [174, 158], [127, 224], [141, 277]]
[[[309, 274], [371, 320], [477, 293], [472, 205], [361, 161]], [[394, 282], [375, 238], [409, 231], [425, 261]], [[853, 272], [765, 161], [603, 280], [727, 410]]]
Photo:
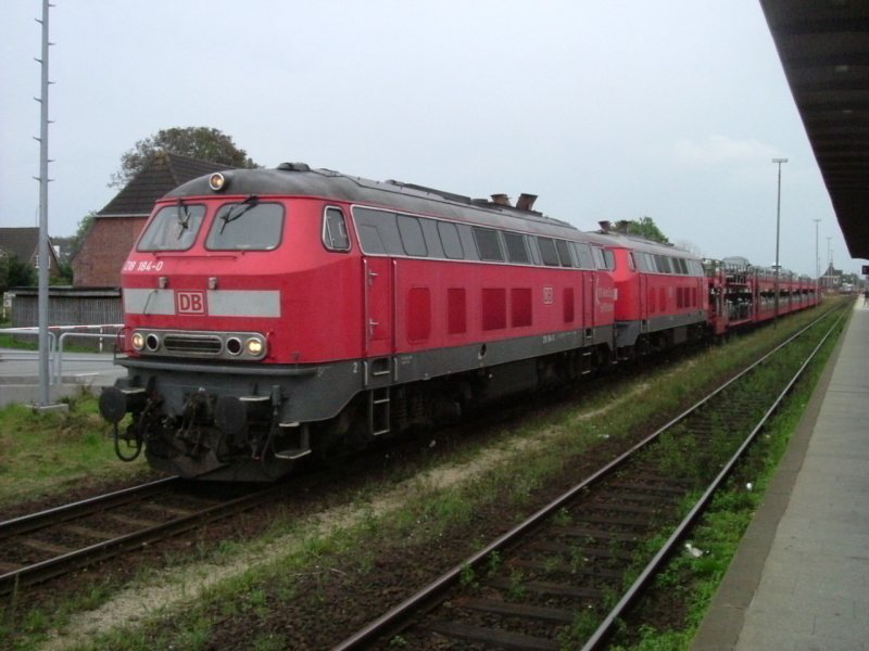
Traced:
[[869, 2], [760, 5], [848, 252], [869, 258]]

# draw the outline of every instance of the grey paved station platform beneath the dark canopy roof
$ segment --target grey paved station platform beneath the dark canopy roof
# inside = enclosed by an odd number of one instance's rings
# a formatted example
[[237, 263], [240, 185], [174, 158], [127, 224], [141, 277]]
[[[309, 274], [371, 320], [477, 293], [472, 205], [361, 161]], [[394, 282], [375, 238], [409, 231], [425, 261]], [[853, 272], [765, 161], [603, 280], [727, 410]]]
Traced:
[[692, 651], [869, 651], [869, 308], [859, 298]]

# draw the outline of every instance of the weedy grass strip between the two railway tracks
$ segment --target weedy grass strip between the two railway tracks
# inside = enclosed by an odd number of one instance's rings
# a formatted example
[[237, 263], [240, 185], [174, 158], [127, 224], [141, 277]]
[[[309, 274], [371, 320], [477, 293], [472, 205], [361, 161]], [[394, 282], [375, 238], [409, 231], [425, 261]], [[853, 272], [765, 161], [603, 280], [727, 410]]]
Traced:
[[[173, 570], [171, 574], [177, 576], [175, 580], [180, 584], [179, 591], [187, 599], [163, 602], [162, 607], [150, 610], [141, 609], [136, 613], [140, 616], [138, 623], [127, 628], [105, 627], [99, 633], [88, 634], [87, 639], [73, 636], [68, 644], [54, 637], [52, 648], [228, 648], [227, 640], [232, 639], [234, 631], [239, 628], [243, 628], [245, 635], [243, 639], [236, 637], [236, 641], [243, 648], [292, 648], [293, 640], [285, 633], [281, 622], [301, 602], [319, 603], [323, 611], [323, 600], [335, 593], [331, 590], [340, 590], [342, 584], [375, 582], [380, 573], [389, 572], [389, 567], [378, 565], [379, 553], [383, 550], [391, 549], [398, 557], [463, 537], [468, 549], [475, 542], [482, 542], [475, 540], [475, 534], [468, 534], [475, 531], [476, 519], [481, 512], [496, 510], [511, 514], [515, 521], [524, 519], [537, 508], [536, 496], [563, 475], [566, 468], [580, 462], [590, 449], [603, 442], [627, 439], [650, 423], [662, 424], [709, 383], [741, 368], [759, 352], [771, 348], [817, 314], [817, 310], [811, 310], [783, 319], [776, 330], [767, 328], [741, 336], [735, 343], [711, 347], [673, 368], [653, 371], [640, 380], [626, 379], [614, 390], [585, 392], [576, 406], [538, 414], [536, 419], [503, 432], [495, 444], [503, 452], [496, 463], [479, 463], [481, 458], [492, 452], [491, 442], [487, 447], [471, 441], [458, 454], [433, 455], [412, 471], [421, 475], [444, 467], [477, 469], [468, 471], [462, 481], [443, 485], [424, 478], [408, 481], [406, 477], [411, 471], [395, 468], [394, 476], [371, 483], [356, 496], [352, 503], [357, 512], [354, 518], [325, 525], [316, 518], [301, 522], [277, 519], [260, 540], [215, 544], [199, 560], [215, 565], [240, 561], [238, 572], [200, 592], [192, 585], [196, 578]], [[640, 396], [641, 399], [637, 399]], [[618, 407], [613, 408], [613, 405]], [[0, 432], [4, 431], [0, 421]], [[105, 458], [113, 458], [110, 439], [104, 438], [103, 443]], [[0, 447], [0, 455], [3, 452], [4, 448]], [[109, 467], [129, 468], [115, 461], [95, 461], [91, 473]], [[48, 484], [52, 482], [47, 481]], [[400, 499], [390, 502], [385, 496], [396, 486], [400, 487]], [[753, 495], [759, 496], [760, 492]], [[732, 528], [741, 535], [741, 527], [744, 528], [740, 522]], [[286, 540], [293, 544], [285, 544]], [[275, 553], [264, 553], [265, 549], [274, 549], [273, 544], [285, 548]], [[253, 559], [257, 557], [266, 558], [255, 562]], [[676, 574], [680, 575], [680, 572]], [[709, 575], [715, 576], [715, 573]], [[166, 575], [155, 578], [146, 573], [137, 580], [140, 585], [123, 588], [144, 590], [154, 583], [172, 579]], [[423, 583], [425, 579], [420, 577], [419, 585]], [[717, 585], [716, 578], [711, 585]], [[111, 610], [121, 589], [91, 590], [64, 597], [50, 607], [28, 609], [21, 604], [15, 613], [0, 613], [0, 647], [7, 643], [16, 649], [39, 648], [53, 635], [53, 627], [62, 631], [73, 629], [80, 613], [101, 605]], [[711, 593], [714, 587], [700, 588], [700, 591]], [[128, 613], [122, 613], [116, 621], [128, 618]], [[666, 646], [668, 636], [680, 635], [678, 630], [653, 631], [647, 638], [650, 641], [644, 639], [638, 643], [654, 643], [655, 635], [664, 646], [638, 648], [683, 648]]]

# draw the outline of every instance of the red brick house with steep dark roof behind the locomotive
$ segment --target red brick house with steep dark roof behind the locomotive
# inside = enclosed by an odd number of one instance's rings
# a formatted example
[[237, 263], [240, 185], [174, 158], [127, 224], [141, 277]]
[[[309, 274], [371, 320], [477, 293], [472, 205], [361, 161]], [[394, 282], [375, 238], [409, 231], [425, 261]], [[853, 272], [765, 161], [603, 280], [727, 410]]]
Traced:
[[161, 152], [97, 213], [73, 257], [73, 286], [116, 288], [121, 267], [148, 220], [154, 202], [173, 188], [226, 165]]

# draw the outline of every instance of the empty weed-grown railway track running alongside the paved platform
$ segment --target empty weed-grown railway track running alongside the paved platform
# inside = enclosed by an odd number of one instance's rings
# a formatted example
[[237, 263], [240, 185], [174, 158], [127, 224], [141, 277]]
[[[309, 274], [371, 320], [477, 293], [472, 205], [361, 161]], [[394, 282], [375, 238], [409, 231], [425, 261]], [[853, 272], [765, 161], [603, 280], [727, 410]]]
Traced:
[[[683, 548], [687, 533], [842, 316], [819, 334], [822, 316], [333, 651], [603, 648], [676, 550], [701, 553]], [[763, 381], [791, 345], [808, 349], [798, 369]]]

